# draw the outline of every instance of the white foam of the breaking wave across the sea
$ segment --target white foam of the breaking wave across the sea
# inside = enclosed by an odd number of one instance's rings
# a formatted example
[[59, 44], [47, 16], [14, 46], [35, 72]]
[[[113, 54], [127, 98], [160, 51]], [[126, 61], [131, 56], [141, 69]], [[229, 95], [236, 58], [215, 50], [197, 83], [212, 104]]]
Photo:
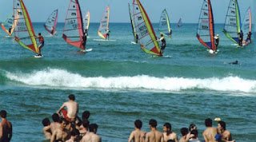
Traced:
[[45, 69], [34, 73], [6, 73], [12, 81], [31, 86], [49, 86], [73, 89], [146, 89], [157, 91], [181, 91], [209, 89], [224, 92], [256, 93], [256, 81], [240, 77], [210, 77], [206, 79], [183, 77], [83, 77], [63, 69]]

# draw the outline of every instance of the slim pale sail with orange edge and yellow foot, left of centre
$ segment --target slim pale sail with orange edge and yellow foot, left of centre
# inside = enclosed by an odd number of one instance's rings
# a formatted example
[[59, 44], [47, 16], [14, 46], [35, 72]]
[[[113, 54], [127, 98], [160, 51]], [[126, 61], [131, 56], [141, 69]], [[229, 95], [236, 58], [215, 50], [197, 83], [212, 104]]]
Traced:
[[109, 23], [110, 23], [110, 6], [107, 6], [98, 28], [98, 35], [104, 39], [106, 39], [106, 30], [109, 28]]

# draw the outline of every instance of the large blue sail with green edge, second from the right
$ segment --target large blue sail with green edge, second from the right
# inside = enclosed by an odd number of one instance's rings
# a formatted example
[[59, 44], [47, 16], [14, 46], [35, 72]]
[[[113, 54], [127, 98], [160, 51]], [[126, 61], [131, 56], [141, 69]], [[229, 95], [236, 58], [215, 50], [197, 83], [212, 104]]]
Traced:
[[238, 6], [238, 0], [230, 0], [230, 6], [226, 13], [226, 22], [223, 33], [231, 41], [238, 43], [238, 33], [241, 31], [241, 18]]

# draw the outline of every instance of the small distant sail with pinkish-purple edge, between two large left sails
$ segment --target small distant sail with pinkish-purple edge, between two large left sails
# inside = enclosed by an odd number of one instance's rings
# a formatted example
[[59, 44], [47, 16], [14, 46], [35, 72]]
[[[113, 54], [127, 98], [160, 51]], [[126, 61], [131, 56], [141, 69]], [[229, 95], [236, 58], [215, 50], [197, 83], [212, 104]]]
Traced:
[[58, 21], [58, 10], [54, 10], [50, 17], [46, 20], [45, 28], [50, 34], [54, 34], [56, 31], [56, 25]]

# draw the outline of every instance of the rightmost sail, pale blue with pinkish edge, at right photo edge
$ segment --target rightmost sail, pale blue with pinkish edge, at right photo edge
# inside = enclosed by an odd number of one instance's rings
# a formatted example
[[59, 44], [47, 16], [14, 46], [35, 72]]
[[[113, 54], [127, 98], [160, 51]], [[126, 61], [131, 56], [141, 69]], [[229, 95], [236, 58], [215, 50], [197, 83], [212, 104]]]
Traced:
[[251, 10], [249, 7], [248, 10], [246, 10], [246, 15], [243, 18], [243, 22], [242, 22], [242, 32], [244, 33], [243, 39], [246, 39], [247, 34], [251, 32], [251, 24], [252, 24], [252, 18], [251, 18]]

